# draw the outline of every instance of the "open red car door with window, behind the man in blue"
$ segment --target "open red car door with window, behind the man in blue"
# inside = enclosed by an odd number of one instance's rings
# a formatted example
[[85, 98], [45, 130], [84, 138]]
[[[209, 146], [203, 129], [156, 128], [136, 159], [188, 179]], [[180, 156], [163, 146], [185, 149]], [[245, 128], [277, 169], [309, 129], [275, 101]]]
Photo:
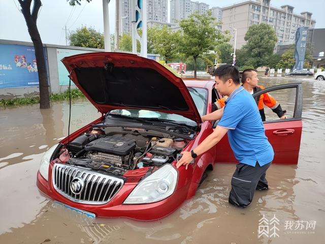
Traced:
[[[274, 164], [297, 164], [302, 133], [303, 94], [301, 83], [290, 83], [265, 88], [253, 97], [269, 93], [287, 113], [286, 119], [280, 119], [265, 106], [265, 134], [274, 150]], [[228, 137], [224, 136], [217, 144], [217, 163], [238, 163], [230, 148]]]

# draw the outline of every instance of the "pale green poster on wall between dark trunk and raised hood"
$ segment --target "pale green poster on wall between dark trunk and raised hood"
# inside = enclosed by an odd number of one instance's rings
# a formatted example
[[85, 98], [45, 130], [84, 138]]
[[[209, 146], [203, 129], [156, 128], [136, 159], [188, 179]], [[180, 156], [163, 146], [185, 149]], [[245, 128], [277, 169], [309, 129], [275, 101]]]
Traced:
[[[59, 85], [69, 85], [69, 73], [64, 67], [63, 63], [61, 62], [61, 59], [63, 57], [68, 57], [80, 53], [87, 53], [92, 51], [83, 51], [83, 50], [73, 50], [73, 49], [56, 49], [56, 56], [57, 56], [57, 69], [58, 69], [58, 76], [59, 76]], [[73, 81], [71, 81], [71, 84], [73, 84]]]

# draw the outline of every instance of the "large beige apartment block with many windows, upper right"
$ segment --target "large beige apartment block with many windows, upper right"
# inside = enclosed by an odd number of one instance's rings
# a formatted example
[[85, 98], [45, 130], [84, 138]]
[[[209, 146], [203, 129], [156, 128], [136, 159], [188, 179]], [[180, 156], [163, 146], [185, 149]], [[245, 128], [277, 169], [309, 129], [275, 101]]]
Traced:
[[[272, 26], [278, 37], [277, 45], [295, 43], [298, 27], [314, 28], [316, 21], [311, 18], [312, 13], [296, 14], [293, 6], [276, 8], [270, 2], [271, 0], [245, 1], [222, 8], [222, 31], [228, 29], [233, 33], [233, 28], [237, 29], [236, 48], [241, 48], [246, 43], [244, 37], [252, 24], [267, 23]], [[234, 45], [235, 38], [231, 41]]]

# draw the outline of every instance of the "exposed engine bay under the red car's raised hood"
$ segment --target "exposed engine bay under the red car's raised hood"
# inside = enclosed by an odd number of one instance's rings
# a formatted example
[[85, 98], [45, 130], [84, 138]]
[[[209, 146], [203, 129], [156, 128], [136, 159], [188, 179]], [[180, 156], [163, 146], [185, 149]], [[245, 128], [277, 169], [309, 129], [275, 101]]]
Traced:
[[127, 170], [172, 163], [186, 139], [142, 128], [93, 128], [63, 145], [55, 163], [123, 175]]

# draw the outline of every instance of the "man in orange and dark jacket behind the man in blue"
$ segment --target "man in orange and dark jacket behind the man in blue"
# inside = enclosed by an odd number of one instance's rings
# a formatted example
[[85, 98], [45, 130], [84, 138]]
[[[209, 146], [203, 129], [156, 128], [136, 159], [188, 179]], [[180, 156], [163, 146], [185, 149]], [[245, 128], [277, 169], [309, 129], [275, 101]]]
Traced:
[[[259, 92], [260, 90], [264, 89], [263, 85], [257, 85], [258, 77], [257, 72], [254, 69], [246, 69], [242, 73], [242, 86], [249, 92], [251, 95]], [[228, 99], [228, 97], [223, 97], [221, 99], [217, 99], [214, 103], [213, 110], [220, 109], [224, 107], [224, 102]], [[262, 94], [259, 97], [255, 97], [255, 102], [257, 104], [259, 114], [261, 114], [262, 121], [265, 121], [265, 112], [264, 112], [264, 105], [268, 106], [275, 112], [280, 119], [285, 119], [286, 110], [282, 110], [281, 105], [268, 93]]]

